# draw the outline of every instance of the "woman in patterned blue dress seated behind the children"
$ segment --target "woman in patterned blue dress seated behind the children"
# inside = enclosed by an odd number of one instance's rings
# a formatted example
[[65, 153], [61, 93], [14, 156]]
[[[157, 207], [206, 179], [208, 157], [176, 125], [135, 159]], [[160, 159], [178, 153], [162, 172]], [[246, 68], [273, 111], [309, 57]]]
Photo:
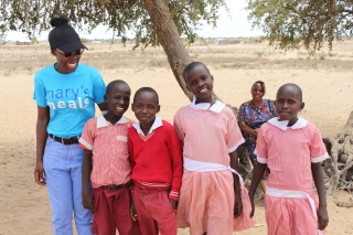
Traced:
[[[257, 130], [263, 124], [267, 122], [272, 117], [277, 117], [274, 100], [264, 99], [266, 93], [265, 83], [257, 81], [252, 86], [253, 99], [243, 103], [239, 108], [238, 124], [246, 141], [253, 167], [256, 164], [256, 154], [254, 153], [257, 140]], [[269, 169], [265, 171], [260, 186], [266, 192], [266, 180], [269, 174]]]

